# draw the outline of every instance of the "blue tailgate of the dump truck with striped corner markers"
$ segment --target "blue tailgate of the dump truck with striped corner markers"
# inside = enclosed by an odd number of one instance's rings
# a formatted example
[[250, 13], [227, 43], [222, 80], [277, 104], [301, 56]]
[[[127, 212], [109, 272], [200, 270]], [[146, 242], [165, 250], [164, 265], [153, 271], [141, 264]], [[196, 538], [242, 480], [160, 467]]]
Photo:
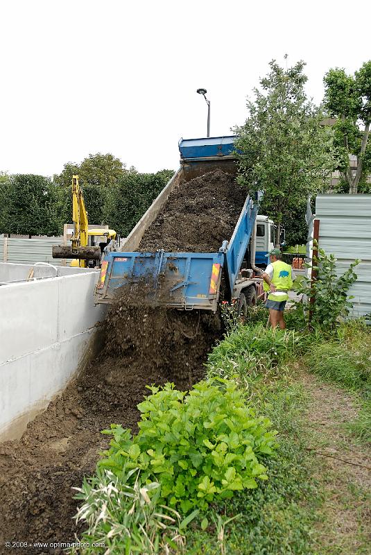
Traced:
[[119, 287], [148, 284], [153, 306], [216, 311], [224, 254], [105, 253], [95, 302], [112, 303]]

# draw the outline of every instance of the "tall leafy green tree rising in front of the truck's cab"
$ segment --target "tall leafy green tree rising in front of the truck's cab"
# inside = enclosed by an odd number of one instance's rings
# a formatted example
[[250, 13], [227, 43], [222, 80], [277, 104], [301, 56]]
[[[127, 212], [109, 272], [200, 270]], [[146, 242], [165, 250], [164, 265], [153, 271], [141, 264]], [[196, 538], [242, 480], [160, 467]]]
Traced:
[[[287, 56], [285, 56], [287, 58]], [[248, 100], [248, 119], [236, 128], [239, 139], [237, 180], [250, 193], [264, 191], [267, 216], [279, 230], [285, 218], [309, 194], [326, 189], [336, 162], [333, 132], [320, 123], [323, 114], [307, 99], [304, 62], [289, 69], [270, 62], [270, 73]]]

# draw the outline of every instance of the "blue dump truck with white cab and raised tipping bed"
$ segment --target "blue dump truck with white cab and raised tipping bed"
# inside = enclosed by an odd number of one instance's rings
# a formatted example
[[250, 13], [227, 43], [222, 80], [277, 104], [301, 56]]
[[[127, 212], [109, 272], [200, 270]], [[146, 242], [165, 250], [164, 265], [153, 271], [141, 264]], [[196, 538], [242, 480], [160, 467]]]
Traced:
[[169, 194], [182, 182], [221, 169], [236, 174], [235, 137], [181, 139], [180, 168], [142, 216], [117, 252], [106, 252], [95, 291], [95, 302], [112, 303], [123, 285], [146, 283], [150, 305], [216, 312], [225, 279], [224, 298], [238, 302], [239, 312], [264, 295], [259, 265], [274, 246], [275, 226], [257, 216], [259, 199], [248, 196], [232, 237], [225, 237], [216, 253], [142, 253], [137, 250], [144, 232], [161, 212]]

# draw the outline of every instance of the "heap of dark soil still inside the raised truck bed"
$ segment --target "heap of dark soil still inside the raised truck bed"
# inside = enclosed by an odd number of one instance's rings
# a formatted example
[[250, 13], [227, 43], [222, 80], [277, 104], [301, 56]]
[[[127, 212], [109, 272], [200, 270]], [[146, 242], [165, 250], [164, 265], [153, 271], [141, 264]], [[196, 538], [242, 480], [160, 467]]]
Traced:
[[144, 233], [139, 250], [215, 253], [232, 236], [245, 198], [234, 176], [221, 170], [180, 183]]

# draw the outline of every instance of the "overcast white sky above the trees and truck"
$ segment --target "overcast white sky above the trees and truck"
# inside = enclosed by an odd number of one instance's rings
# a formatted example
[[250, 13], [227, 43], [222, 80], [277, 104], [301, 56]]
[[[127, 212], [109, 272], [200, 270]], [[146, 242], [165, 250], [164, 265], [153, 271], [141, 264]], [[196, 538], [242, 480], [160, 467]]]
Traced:
[[0, 0], [0, 171], [51, 176], [97, 152], [176, 169], [180, 137], [206, 135], [198, 87], [214, 136], [284, 53], [319, 103], [330, 67], [371, 58], [370, 16], [366, 0]]

